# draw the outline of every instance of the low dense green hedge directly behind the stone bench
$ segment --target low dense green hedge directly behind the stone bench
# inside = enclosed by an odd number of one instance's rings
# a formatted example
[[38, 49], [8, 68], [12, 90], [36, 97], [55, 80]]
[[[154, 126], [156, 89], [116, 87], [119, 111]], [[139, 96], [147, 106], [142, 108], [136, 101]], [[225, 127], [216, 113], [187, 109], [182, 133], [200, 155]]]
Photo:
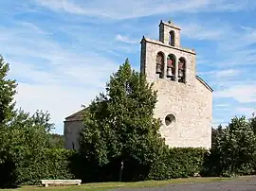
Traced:
[[[42, 179], [73, 179], [70, 159], [73, 150], [46, 148], [34, 159], [9, 160], [0, 165], [1, 187], [38, 184]], [[24, 156], [26, 157], [26, 156]], [[3, 178], [3, 180], [2, 180]], [[6, 178], [6, 179], [5, 179]]]

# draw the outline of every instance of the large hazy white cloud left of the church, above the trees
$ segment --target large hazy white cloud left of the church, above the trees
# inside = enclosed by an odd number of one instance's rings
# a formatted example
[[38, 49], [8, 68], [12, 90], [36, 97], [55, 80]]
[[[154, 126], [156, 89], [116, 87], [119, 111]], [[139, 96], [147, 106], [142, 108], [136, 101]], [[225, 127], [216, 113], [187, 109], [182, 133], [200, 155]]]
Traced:
[[17, 107], [49, 111], [56, 131], [63, 133], [64, 117], [104, 91], [119, 64], [86, 50], [87, 44], [67, 48], [47, 35], [35, 24], [2, 26], [0, 52], [10, 64], [9, 78], [18, 82]]

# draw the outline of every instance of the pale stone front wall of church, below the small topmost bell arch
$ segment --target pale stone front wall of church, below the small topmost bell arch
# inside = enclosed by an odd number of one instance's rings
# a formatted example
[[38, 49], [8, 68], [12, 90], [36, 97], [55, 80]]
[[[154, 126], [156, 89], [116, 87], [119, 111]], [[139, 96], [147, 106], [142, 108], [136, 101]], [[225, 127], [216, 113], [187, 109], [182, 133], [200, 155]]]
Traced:
[[[166, 72], [165, 78], [155, 74], [158, 52], [164, 53], [164, 71], [169, 54], [175, 56], [176, 65], [180, 57], [186, 59], [186, 83], [166, 78]], [[149, 82], [154, 82], [157, 90], [155, 117], [159, 117], [163, 123], [160, 132], [166, 143], [171, 147], [210, 148], [212, 94], [195, 76], [194, 51], [144, 38], [141, 58], [141, 72], [146, 74]], [[166, 125], [166, 116], [170, 114], [173, 121]]]

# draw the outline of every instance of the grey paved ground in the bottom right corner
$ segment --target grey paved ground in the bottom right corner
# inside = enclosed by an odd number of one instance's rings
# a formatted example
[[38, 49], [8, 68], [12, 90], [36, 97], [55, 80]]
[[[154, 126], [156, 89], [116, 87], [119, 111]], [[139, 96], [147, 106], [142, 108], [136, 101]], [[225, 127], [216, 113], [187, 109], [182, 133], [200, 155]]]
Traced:
[[[256, 178], [247, 178], [238, 180], [236, 182], [194, 182], [194, 183], [180, 183], [170, 184], [161, 187], [152, 188], [120, 188], [114, 189], [119, 191], [136, 191], [136, 190], [149, 190], [149, 191], [205, 191], [205, 190], [225, 190], [225, 191], [256, 191]], [[113, 190], [113, 191], [114, 191]]]

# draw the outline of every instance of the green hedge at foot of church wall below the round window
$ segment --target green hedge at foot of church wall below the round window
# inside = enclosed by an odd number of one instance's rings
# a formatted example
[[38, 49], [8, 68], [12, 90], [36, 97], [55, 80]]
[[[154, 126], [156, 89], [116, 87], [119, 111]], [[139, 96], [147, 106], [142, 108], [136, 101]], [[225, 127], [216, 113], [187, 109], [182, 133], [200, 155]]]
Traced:
[[151, 166], [148, 180], [167, 180], [191, 177], [203, 170], [205, 148], [169, 148], [166, 153]]

